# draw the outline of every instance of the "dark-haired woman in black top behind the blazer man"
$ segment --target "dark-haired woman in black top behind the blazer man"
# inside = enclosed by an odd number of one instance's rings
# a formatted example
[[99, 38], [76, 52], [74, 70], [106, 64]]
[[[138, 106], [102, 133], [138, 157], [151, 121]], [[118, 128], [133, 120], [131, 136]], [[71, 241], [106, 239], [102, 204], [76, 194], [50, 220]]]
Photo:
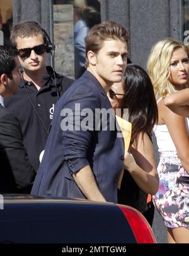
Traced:
[[146, 71], [129, 64], [122, 83], [114, 83], [108, 93], [112, 107], [116, 110], [129, 108], [132, 135], [127, 154], [118, 202], [146, 211], [147, 194], [156, 194], [159, 178], [154, 160], [152, 129], [158, 119], [156, 98], [151, 79]]

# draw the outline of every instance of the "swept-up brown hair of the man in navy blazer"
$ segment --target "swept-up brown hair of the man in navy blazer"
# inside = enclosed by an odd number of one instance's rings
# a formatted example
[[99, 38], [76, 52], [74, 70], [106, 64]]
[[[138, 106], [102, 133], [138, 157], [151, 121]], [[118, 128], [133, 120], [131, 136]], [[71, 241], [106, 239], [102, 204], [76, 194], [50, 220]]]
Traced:
[[129, 33], [120, 23], [108, 20], [97, 24], [89, 30], [86, 37], [86, 67], [89, 65], [88, 51], [91, 50], [96, 54], [103, 47], [103, 42], [108, 39], [121, 40], [129, 47]]

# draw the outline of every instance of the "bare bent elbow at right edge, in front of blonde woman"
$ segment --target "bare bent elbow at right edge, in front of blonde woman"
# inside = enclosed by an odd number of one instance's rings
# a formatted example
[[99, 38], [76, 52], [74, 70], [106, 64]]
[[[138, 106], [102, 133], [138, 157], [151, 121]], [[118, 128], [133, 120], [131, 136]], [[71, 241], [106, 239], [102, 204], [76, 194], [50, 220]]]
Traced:
[[189, 88], [166, 96], [164, 98], [164, 105], [178, 115], [189, 117]]

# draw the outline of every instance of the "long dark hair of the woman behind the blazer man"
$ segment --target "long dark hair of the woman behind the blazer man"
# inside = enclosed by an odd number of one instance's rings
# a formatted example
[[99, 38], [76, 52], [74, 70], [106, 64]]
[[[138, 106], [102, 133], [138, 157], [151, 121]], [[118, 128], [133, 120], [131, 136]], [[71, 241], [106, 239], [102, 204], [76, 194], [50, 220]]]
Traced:
[[142, 67], [129, 64], [125, 70], [125, 95], [120, 108], [129, 108], [132, 123], [130, 145], [137, 143], [140, 132], [151, 138], [152, 129], [158, 120], [158, 110], [151, 79]]

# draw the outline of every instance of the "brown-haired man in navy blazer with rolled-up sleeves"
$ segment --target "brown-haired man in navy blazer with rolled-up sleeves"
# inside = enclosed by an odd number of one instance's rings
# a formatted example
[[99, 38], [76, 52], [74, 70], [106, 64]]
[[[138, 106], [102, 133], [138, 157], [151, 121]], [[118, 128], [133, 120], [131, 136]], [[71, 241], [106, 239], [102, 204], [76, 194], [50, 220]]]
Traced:
[[123, 78], [128, 40], [127, 30], [115, 21], [89, 31], [87, 70], [55, 106], [31, 194], [117, 202], [124, 144], [106, 93]]

